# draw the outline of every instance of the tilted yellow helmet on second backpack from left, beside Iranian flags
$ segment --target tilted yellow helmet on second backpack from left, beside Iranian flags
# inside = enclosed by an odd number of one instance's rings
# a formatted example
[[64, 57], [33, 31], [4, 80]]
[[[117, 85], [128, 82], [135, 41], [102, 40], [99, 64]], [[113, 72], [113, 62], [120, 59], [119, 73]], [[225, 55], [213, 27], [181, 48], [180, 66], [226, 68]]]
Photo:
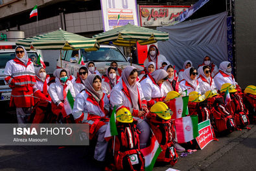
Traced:
[[158, 101], [150, 108], [150, 112], [156, 113], [162, 119], [169, 120], [173, 112], [168, 108], [165, 103]]

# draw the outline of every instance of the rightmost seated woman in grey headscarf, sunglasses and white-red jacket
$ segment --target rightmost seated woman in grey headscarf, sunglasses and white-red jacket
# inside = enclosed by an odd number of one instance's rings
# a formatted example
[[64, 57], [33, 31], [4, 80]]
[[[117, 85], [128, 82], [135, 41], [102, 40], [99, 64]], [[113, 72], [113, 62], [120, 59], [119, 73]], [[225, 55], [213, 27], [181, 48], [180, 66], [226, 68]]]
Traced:
[[235, 78], [233, 77], [231, 72], [232, 72], [231, 63], [229, 63], [228, 61], [224, 61], [220, 63], [218, 74], [216, 74], [214, 77], [215, 85], [218, 90], [221, 89], [224, 83], [237, 85], [237, 82], [235, 82]]

